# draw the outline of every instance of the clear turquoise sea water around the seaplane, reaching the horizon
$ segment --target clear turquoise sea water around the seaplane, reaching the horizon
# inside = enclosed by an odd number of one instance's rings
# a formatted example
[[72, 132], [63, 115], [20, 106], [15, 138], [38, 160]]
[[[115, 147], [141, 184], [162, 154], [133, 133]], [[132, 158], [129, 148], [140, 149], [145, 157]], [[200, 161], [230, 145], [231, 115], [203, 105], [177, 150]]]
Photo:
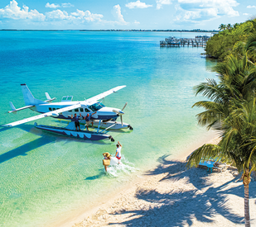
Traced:
[[[84, 100], [126, 85], [104, 104], [122, 108], [133, 131], [110, 132], [123, 144], [123, 169], [104, 174], [102, 153], [115, 143], [75, 140], [33, 127], [0, 128], [0, 225], [44, 226], [71, 210], [88, 207], [157, 163], [205, 136], [191, 109], [192, 87], [213, 78], [214, 63], [202, 48], [160, 48], [167, 32], [1, 31], [1, 124], [36, 115], [30, 110], [5, 114], [24, 105], [21, 83], [34, 97]], [[178, 33], [176, 36], [179, 36]], [[182, 33], [194, 37], [196, 33]], [[201, 34], [200, 34], [201, 35]], [[203, 34], [205, 35], [205, 34]], [[59, 125], [56, 119], [37, 121]]]

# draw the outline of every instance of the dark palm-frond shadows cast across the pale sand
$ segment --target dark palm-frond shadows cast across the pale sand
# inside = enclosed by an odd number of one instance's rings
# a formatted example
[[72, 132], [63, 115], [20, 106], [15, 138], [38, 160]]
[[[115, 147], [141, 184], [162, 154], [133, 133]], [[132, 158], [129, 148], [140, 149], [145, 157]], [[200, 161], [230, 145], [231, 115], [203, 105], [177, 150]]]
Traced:
[[[216, 214], [224, 216], [234, 224], [241, 224], [243, 216], [234, 214], [229, 206], [226, 194], [244, 196], [243, 186], [225, 189], [230, 182], [226, 182], [220, 187], [211, 187], [205, 177], [208, 174], [205, 169], [191, 168], [186, 169], [186, 163], [179, 161], [169, 161], [167, 156], [158, 160], [159, 166], [147, 175], [158, 175], [167, 173], [160, 182], [186, 180], [186, 183], [192, 183], [196, 189], [181, 190], [173, 188], [171, 192], [160, 193], [157, 190], [138, 188], [136, 197], [139, 200], [152, 203], [149, 209], [143, 209], [137, 206], [134, 210], [118, 210], [114, 215], [129, 214], [129, 220], [121, 223], [109, 223], [109, 225], [126, 226], [184, 226], [193, 224], [193, 220], [199, 220], [207, 226], [214, 222]], [[163, 174], [165, 175], [165, 174]], [[156, 204], [158, 206], [156, 206]], [[131, 219], [132, 218], [132, 219]]]

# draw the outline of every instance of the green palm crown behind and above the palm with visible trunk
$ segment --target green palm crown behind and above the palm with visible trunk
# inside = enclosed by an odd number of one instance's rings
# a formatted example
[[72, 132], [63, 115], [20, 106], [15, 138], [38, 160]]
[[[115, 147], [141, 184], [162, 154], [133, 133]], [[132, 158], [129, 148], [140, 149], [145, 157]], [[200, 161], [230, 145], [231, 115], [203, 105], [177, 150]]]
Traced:
[[210, 101], [196, 102], [193, 106], [205, 108], [197, 115], [200, 125], [219, 127], [221, 122], [229, 116], [229, 103], [231, 99], [249, 100], [254, 97], [256, 90], [256, 69], [250, 64], [246, 56], [239, 58], [229, 55], [225, 62], [218, 63], [214, 70], [219, 73], [219, 82], [207, 79], [195, 87], [196, 95], [201, 93]]

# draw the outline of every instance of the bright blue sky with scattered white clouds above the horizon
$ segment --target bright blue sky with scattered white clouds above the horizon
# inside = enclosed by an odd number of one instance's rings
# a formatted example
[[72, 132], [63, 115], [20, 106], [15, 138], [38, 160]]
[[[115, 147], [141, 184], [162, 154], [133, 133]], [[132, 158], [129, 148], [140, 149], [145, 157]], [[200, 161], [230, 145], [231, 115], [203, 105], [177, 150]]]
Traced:
[[0, 29], [218, 30], [254, 17], [255, 0], [0, 1]]

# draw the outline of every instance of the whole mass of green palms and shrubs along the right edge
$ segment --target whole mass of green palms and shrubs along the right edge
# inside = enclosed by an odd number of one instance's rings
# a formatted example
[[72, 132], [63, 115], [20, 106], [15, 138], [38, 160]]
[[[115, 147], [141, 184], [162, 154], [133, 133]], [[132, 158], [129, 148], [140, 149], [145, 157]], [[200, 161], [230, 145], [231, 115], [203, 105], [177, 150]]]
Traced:
[[[215, 46], [223, 46], [223, 42], [228, 43], [228, 37], [234, 38], [232, 42], [229, 40], [229, 50], [225, 57], [223, 55], [223, 61], [214, 68], [217, 80], [208, 79], [195, 87], [196, 95], [202, 94], [208, 99], [194, 104], [205, 109], [197, 115], [198, 122], [208, 130], [218, 130], [220, 142], [196, 149], [187, 167], [210, 159], [233, 163], [242, 173], [244, 220], [249, 227], [249, 182], [256, 170], [256, 19], [233, 28], [220, 25], [224, 33], [211, 39]], [[229, 35], [225, 36], [225, 32]], [[238, 40], [234, 34], [239, 34]]]

